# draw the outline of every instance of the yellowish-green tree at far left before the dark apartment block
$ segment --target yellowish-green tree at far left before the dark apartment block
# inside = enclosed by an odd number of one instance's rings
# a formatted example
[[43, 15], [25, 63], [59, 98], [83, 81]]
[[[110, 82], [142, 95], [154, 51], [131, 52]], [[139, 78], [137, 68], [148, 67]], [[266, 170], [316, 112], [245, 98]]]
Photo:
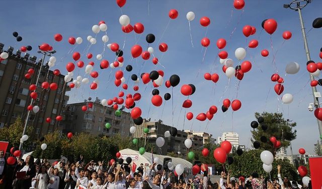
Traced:
[[[26, 135], [28, 135], [29, 139], [24, 142], [23, 148], [29, 147], [32, 145], [32, 133], [33, 128], [31, 126], [27, 127]], [[0, 141], [8, 141], [9, 145], [18, 147], [20, 145], [20, 139], [22, 137], [22, 133], [24, 131], [24, 123], [22, 122], [20, 117], [17, 117], [16, 121], [10, 125], [10, 127], [4, 127], [0, 129]]]

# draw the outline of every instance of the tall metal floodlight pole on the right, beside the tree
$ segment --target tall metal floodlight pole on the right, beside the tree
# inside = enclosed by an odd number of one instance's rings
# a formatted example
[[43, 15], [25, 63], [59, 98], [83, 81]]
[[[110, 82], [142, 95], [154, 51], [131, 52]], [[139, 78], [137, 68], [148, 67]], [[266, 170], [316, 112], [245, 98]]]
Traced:
[[[285, 9], [290, 8], [290, 9], [298, 12], [298, 15], [300, 17], [301, 30], [302, 30], [303, 40], [304, 40], [304, 48], [305, 48], [307, 61], [311, 60], [311, 57], [310, 57], [310, 52], [308, 50], [301, 9], [303, 9], [309, 3], [311, 3], [311, 0], [294, 0], [289, 5], [284, 5]], [[314, 77], [311, 74], [309, 74], [309, 76], [310, 76], [310, 80], [313, 81]], [[319, 108], [320, 104], [318, 102], [318, 97], [320, 97], [320, 94], [316, 91], [316, 87], [312, 87], [312, 93], [313, 93], [313, 99], [314, 99], [314, 106], [315, 106], [315, 108]], [[322, 121], [317, 119], [317, 124], [318, 124], [319, 135], [321, 138], [322, 137]]]

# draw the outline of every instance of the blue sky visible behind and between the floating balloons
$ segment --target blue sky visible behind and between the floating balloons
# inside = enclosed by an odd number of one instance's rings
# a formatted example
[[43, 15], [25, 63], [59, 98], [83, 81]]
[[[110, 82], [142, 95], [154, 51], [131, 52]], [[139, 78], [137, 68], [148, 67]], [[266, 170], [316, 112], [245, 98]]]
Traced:
[[[171, 100], [167, 101], [160, 107], [151, 105], [150, 99], [152, 97], [152, 85], [149, 83], [143, 85], [139, 84], [139, 92], [142, 99], [137, 103], [141, 107], [143, 117], [151, 117], [151, 120], [158, 120], [159, 118], [164, 123], [174, 125], [178, 129], [190, 129], [206, 131], [217, 138], [222, 132], [232, 130], [239, 134], [240, 144], [251, 148], [251, 127], [250, 122], [255, 119], [255, 112], [283, 112], [285, 118], [289, 118], [297, 122], [297, 139], [292, 142], [293, 153], [297, 153], [299, 148], [305, 148], [307, 152], [313, 154], [313, 144], [318, 140], [318, 128], [313, 112], [307, 110], [308, 103], [312, 102], [311, 89], [309, 86], [309, 77], [305, 69], [306, 57], [303, 48], [303, 40], [300, 31], [300, 23], [298, 13], [290, 9], [283, 9], [283, 4], [288, 4], [289, 1], [246, 1], [245, 11], [235, 10], [232, 6], [233, 1], [127, 1], [122, 8], [123, 14], [126, 14], [131, 19], [131, 24], [141, 22], [145, 29], [142, 36], [135, 34], [134, 31], [125, 34], [121, 30], [119, 24], [119, 17], [122, 15], [120, 8], [115, 1], [3, 1], [2, 17], [0, 17], [1, 30], [0, 42], [4, 43], [8, 48], [9, 45], [16, 49], [23, 45], [32, 45], [33, 50], [31, 55], [37, 55], [36, 47], [41, 43], [49, 43], [57, 51], [56, 66], [53, 69], [59, 69], [62, 74], [66, 74], [65, 65], [69, 61], [73, 61], [71, 53], [67, 54], [70, 48], [74, 46], [68, 43], [68, 37], [74, 36], [82, 37], [83, 43], [77, 45], [74, 51], [82, 54], [88, 45], [86, 40], [88, 35], [95, 37], [92, 32], [92, 26], [98, 24], [99, 21], [104, 20], [108, 26], [107, 34], [109, 42], [116, 42], [121, 47], [124, 39], [124, 67], [131, 64], [133, 71], [127, 73], [124, 71], [125, 78], [131, 74], [138, 74], [142, 72], [149, 73], [152, 70], [163, 70], [165, 72], [165, 81], [169, 80], [170, 76], [177, 74], [181, 78], [180, 84], [173, 90], [174, 98], [174, 118], [172, 120], [172, 104]], [[148, 4], [149, 3], [149, 4]], [[148, 6], [149, 5], [149, 6]], [[320, 17], [318, 8], [322, 7], [322, 2], [313, 1], [312, 4], [305, 7], [302, 11], [304, 24], [307, 31], [311, 28], [311, 23], [316, 17]], [[171, 9], [177, 9], [179, 17], [175, 20], [170, 20], [168, 13]], [[149, 13], [148, 13], [149, 10]], [[193, 11], [196, 15], [195, 20], [191, 22], [191, 33], [194, 47], [191, 45], [189, 24], [186, 19], [186, 14]], [[243, 12], [243, 13], [242, 13]], [[207, 16], [211, 20], [208, 29], [199, 24], [199, 19]], [[271, 49], [270, 35], [262, 30], [261, 23], [264, 19], [273, 18], [277, 21], [278, 27], [276, 32], [272, 35], [274, 50], [278, 50], [276, 56], [276, 66], [285, 80], [284, 93], [291, 93], [294, 96], [294, 101], [290, 105], [281, 104], [278, 101], [277, 95], [274, 92], [275, 83], [270, 81], [271, 75], [274, 73], [271, 65], [273, 53]], [[169, 22], [170, 21], [170, 22]], [[166, 26], [169, 26], [166, 29]], [[257, 32], [248, 39], [241, 32], [245, 25], [255, 26]], [[230, 33], [236, 28], [230, 38]], [[292, 38], [284, 41], [282, 33], [285, 30], [292, 32]], [[17, 31], [23, 37], [21, 42], [16, 42], [12, 36], [12, 32]], [[165, 32], [164, 32], [165, 31]], [[206, 33], [207, 31], [207, 33]], [[311, 52], [311, 58], [315, 62], [320, 61], [318, 57], [319, 49], [322, 46], [320, 43], [320, 34], [322, 30], [314, 29], [308, 33], [308, 45]], [[63, 41], [56, 42], [53, 39], [54, 34], [60, 33], [63, 35]], [[156, 37], [152, 47], [154, 48], [154, 55], [158, 57], [160, 65], [154, 66], [150, 60], [144, 62], [142, 67], [142, 58], [131, 60], [130, 49], [135, 44], [135, 39], [138, 44], [147, 48], [145, 35], [153, 33]], [[161, 38], [162, 34], [163, 37]], [[97, 43], [92, 45], [89, 52], [93, 53], [94, 57], [91, 61], [95, 61], [94, 70], [98, 71], [99, 88], [96, 91], [90, 89], [90, 84], [84, 85], [79, 89], [73, 89], [69, 93], [70, 101], [81, 102], [91, 96], [96, 96], [103, 99], [110, 99], [117, 96], [121, 88], [114, 86], [114, 73], [119, 69], [100, 70], [99, 63], [95, 57], [102, 53], [104, 43], [101, 37], [104, 32], [97, 35]], [[210, 39], [210, 46], [202, 63], [204, 48], [200, 44], [201, 38], [206, 36]], [[219, 59], [217, 59], [217, 68], [213, 66], [213, 61], [216, 57], [218, 49], [216, 41], [218, 38], [225, 38], [227, 45], [224, 48], [228, 52], [228, 57], [234, 60], [234, 66], [238, 64], [234, 57], [234, 50], [238, 47], [246, 47], [247, 42], [252, 39], [259, 40], [259, 46], [255, 49], [247, 49], [247, 56], [245, 60], [250, 60], [253, 68], [246, 73], [244, 79], [240, 82], [239, 89], [236, 88], [237, 80], [232, 78], [228, 84], [228, 79], [221, 71]], [[229, 39], [230, 38], [230, 39]], [[163, 53], [158, 51], [157, 42], [165, 42], [168, 44], [168, 51]], [[262, 57], [260, 52], [262, 49], [268, 49], [270, 55]], [[87, 65], [88, 60], [84, 54], [81, 59]], [[115, 53], [105, 48], [104, 59], [110, 63], [115, 59]], [[291, 62], [296, 61], [300, 64], [300, 71], [296, 75], [285, 76], [285, 66]], [[212, 70], [212, 72], [211, 72]], [[112, 74], [110, 75], [110, 73]], [[199, 72], [198, 78], [197, 73]], [[206, 72], [219, 74], [219, 81], [214, 84], [211, 81], [205, 81], [203, 74]], [[74, 71], [73, 78], [76, 78], [78, 68]], [[85, 77], [84, 68], [79, 71], [79, 75]], [[110, 77], [109, 77], [110, 76]], [[87, 76], [88, 77], [88, 76]], [[110, 78], [110, 80], [108, 80]], [[93, 79], [90, 78], [90, 83]], [[126, 81], [129, 85], [127, 93], [134, 93], [132, 88], [134, 82], [130, 79]], [[195, 118], [184, 123], [185, 109], [181, 105], [187, 97], [181, 95], [180, 87], [183, 84], [194, 84], [196, 92], [189, 97], [193, 101], [193, 106], [186, 110], [191, 111], [196, 116], [198, 113], [206, 112], [211, 105], [218, 107], [217, 114], [208, 123], [206, 129], [206, 121], [198, 121]], [[227, 88], [226, 88], [227, 86]], [[320, 86], [317, 87], [318, 90]], [[165, 86], [158, 88], [160, 95], [171, 93], [171, 88]], [[124, 91], [124, 90], [123, 90]], [[231, 101], [238, 97], [242, 103], [241, 109], [233, 113], [229, 110], [222, 113], [220, 107], [224, 98], [229, 98]], [[283, 94], [284, 94], [283, 93]], [[282, 96], [282, 95], [281, 95]], [[281, 98], [280, 96], [280, 98]], [[162, 114], [163, 112], [163, 114]]]

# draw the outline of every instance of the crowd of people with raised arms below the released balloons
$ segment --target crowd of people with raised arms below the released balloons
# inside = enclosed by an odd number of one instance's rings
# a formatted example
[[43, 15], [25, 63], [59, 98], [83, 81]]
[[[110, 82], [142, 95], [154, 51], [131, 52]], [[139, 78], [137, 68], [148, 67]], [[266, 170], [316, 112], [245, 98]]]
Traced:
[[[25, 160], [18, 160], [13, 171], [8, 171], [4, 152], [0, 152], [0, 189], [290, 189], [311, 188], [302, 186], [296, 181], [278, 175], [274, 179], [266, 179], [253, 173], [251, 176], [232, 177], [231, 172], [221, 172], [219, 181], [212, 183], [207, 171], [202, 174], [187, 175], [185, 171], [178, 176], [172, 170], [156, 163], [149, 166], [133, 166], [133, 162], [120, 163], [115, 161], [85, 163], [83, 156], [76, 162], [49, 163], [46, 159], [34, 160], [29, 155]], [[205, 170], [205, 165], [201, 168]], [[24, 172], [23, 176], [19, 175]], [[310, 185], [310, 184], [309, 184]]]

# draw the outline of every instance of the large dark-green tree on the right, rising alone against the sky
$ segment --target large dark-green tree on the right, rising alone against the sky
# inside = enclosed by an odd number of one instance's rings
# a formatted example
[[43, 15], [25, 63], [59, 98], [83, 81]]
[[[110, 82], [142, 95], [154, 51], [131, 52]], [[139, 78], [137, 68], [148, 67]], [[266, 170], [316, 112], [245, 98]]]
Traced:
[[[281, 142], [281, 147], [287, 148], [290, 145], [290, 142], [296, 138], [296, 130], [292, 131], [292, 129], [296, 126], [296, 122], [290, 122], [283, 118], [282, 113], [268, 113], [264, 112], [262, 114], [256, 112], [255, 117], [258, 119], [259, 117], [264, 118], [264, 123], [260, 124], [257, 129], [252, 131], [253, 139], [252, 141], [261, 141], [261, 137], [265, 136], [267, 138], [267, 142], [261, 142], [261, 149], [269, 150], [275, 156], [275, 148], [273, 144], [270, 142], [270, 138], [274, 136], [278, 141]], [[262, 125], [266, 124], [268, 129], [264, 131], [262, 129]]]

